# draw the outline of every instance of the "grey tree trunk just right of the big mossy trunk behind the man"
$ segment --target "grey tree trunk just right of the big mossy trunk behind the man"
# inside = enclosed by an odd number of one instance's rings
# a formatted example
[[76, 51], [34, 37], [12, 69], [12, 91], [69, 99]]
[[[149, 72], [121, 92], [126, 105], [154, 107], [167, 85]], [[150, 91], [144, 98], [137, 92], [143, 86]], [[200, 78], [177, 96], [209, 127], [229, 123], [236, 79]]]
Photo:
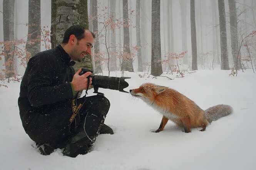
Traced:
[[101, 61], [99, 59], [100, 45], [99, 45], [99, 33], [98, 33], [98, 2], [97, 0], [92, 0], [92, 28], [95, 33], [95, 42], [94, 42], [94, 64], [95, 64], [95, 74], [102, 73]]

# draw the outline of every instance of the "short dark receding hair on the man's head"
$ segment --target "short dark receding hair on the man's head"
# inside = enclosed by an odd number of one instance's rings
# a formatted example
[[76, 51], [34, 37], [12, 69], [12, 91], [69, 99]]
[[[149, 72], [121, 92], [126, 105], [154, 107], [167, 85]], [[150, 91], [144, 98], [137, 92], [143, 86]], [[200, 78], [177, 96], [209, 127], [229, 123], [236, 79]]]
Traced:
[[[79, 41], [80, 39], [84, 38], [84, 31], [87, 30], [81, 25], [72, 25], [70, 26], [64, 33], [64, 37], [62, 43], [67, 44], [69, 42], [70, 35], [75, 35], [75, 38]], [[89, 30], [88, 30], [89, 31]], [[95, 38], [94, 33], [92, 33], [93, 38]]]

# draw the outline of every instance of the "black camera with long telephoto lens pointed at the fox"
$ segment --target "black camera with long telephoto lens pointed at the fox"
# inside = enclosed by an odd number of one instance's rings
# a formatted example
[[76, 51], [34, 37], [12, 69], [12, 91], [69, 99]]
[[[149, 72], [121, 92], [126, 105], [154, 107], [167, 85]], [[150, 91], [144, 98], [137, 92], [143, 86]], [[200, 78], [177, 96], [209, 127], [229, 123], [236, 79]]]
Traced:
[[[79, 73], [79, 75], [83, 75], [86, 72], [93, 73], [93, 71], [90, 69], [82, 68], [82, 71]], [[98, 92], [99, 88], [108, 88], [111, 90], [119, 90], [119, 92], [129, 93], [124, 91], [124, 88], [129, 86], [129, 84], [125, 82], [125, 79], [131, 77], [109, 77], [103, 75], [90, 75], [89, 77], [92, 78], [94, 93], [103, 94]]]

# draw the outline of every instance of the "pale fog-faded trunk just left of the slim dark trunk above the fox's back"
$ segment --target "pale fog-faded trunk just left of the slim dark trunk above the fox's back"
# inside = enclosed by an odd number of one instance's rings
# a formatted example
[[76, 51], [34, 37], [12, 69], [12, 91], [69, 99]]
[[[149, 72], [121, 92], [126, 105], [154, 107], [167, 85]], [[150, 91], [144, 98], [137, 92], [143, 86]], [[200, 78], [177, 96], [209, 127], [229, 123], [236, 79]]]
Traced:
[[[187, 51], [187, 0], [180, 0], [181, 5], [181, 31], [182, 51]], [[187, 53], [183, 57], [183, 63], [188, 64]]]

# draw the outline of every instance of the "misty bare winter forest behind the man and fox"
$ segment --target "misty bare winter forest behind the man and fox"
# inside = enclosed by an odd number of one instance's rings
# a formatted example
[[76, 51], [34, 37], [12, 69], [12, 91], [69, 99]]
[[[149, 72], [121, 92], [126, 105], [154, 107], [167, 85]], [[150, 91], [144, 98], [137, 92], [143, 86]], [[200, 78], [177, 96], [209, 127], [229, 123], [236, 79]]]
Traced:
[[30, 57], [60, 44], [73, 24], [96, 35], [92, 55], [75, 64], [76, 70], [176, 77], [207, 69], [230, 70], [230, 76], [255, 71], [254, 0], [0, 2], [2, 84], [19, 81]]

